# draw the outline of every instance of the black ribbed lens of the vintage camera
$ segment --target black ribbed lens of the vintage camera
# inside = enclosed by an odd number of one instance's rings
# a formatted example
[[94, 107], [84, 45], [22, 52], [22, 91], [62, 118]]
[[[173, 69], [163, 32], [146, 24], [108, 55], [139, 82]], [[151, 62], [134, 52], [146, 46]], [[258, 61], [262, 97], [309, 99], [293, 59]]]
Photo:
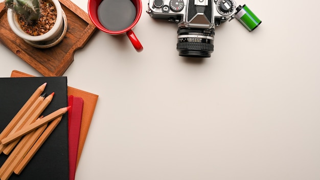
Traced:
[[211, 57], [214, 35], [214, 28], [196, 29], [179, 27], [177, 42], [179, 56]]

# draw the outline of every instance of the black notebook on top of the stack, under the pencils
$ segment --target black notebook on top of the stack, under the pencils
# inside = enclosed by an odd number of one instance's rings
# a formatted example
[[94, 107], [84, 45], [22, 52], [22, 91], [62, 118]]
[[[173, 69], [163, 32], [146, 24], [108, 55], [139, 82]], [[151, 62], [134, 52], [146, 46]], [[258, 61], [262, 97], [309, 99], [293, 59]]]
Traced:
[[[66, 77], [0, 78], [0, 132], [7, 126], [36, 89], [47, 82], [44, 92], [55, 93], [51, 103], [41, 115], [67, 106]], [[10, 155], [10, 154], [9, 154]], [[0, 166], [9, 155], [0, 154]], [[68, 119], [67, 113], [43, 143], [31, 161], [19, 175], [12, 174], [9, 180], [64, 180], [69, 178], [68, 164]]]

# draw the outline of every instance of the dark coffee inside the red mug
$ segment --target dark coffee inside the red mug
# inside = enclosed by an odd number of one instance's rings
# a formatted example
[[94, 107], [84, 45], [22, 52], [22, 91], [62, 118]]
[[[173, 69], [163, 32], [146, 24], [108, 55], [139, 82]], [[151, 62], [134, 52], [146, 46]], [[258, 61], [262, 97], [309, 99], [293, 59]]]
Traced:
[[135, 19], [135, 7], [130, 0], [103, 0], [98, 7], [100, 23], [108, 30], [121, 31]]

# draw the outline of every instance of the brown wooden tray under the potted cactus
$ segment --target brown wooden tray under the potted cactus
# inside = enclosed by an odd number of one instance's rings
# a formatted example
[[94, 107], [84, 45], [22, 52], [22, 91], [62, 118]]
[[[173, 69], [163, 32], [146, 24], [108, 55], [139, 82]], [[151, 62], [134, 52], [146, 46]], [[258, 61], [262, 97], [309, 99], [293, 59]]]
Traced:
[[75, 51], [83, 48], [97, 30], [88, 14], [70, 0], [59, 0], [67, 17], [67, 32], [55, 47], [38, 49], [16, 36], [8, 24], [7, 9], [0, 3], [0, 43], [30, 64], [43, 76], [62, 76], [74, 61]]

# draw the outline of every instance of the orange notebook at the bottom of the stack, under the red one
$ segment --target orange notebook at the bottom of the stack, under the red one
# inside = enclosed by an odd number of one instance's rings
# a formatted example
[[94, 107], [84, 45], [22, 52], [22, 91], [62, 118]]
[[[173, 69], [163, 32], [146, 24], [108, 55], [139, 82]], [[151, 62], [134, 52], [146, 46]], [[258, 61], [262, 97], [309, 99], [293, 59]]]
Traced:
[[[11, 77], [31, 77], [32, 75], [22, 73], [20, 71], [12, 71]], [[88, 93], [82, 91], [80, 89], [74, 87], [67, 87], [67, 95], [81, 97], [84, 101], [83, 103], [83, 112], [82, 112], [82, 121], [81, 121], [81, 129], [80, 129], [80, 138], [79, 138], [79, 148], [77, 155], [77, 166], [79, 164], [80, 156], [82, 153], [82, 149], [84, 146], [85, 139], [87, 137], [87, 133], [89, 131], [90, 123], [94, 116], [95, 108], [98, 101], [98, 95]]]

